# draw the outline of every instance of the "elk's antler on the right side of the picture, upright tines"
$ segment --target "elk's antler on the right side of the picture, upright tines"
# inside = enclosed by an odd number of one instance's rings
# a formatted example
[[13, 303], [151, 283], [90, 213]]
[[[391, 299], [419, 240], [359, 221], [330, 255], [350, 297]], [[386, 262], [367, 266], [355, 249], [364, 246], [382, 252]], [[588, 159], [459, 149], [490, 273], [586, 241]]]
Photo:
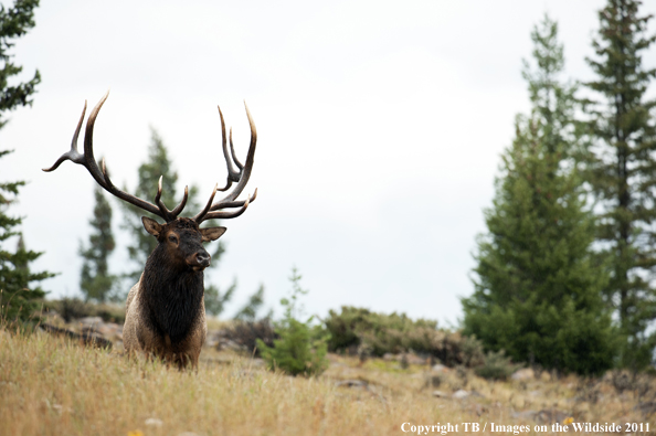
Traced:
[[[205, 208], [193, 217], [193, 220], [198, 224], [202, 223], [205, 220], [232, 219], [240, 216], [242, 213], [244, 213], [246, 208], [248, 208], [248, 204], [255, 201], [255, 199], [257, 198], [257, 189], [255, 189], [253, 196], [248, 195], [246, 200], [236, 201], [236, 198], [242, 193], [242, 191], [246, 187], [246, 183], [248, 182], [248, 179], [251, 178], [251, 172], [253, 171], [253, 162], [255, 160], [255, 145], [257, 142], [257, 130], [255, 129], [255, 123], [253, 123], [253, 118], [251, 117], [251, 113], [248, 111], [248, 106], [246, 106], [245, 102], [244, 106], [246, 107], [246, 117], [248, 117], [248, 125], [251, 126], [251, 145], [248, 146], [248, 155], [246, 155], [245, 164], [242, 164], [234, 153], [234, 146], [232, 143], [232, 128], [230, 129], [230, 155], [228, 152], [228, 145], [225, 140], [225, 121], [223, 120], [223, 114], [221, 113], [221, 108], [219, 107], [219, 116], [221, 117], [221, 135], [223, 138], [223, 157], [225, 158], [225, 164], [228, 167], [228, 180], [224, 188], [219, 189], [218, 184], [214, 187], [214, 190], [210, 195], [210, 201], [208, 201]], [[233, 163], [234, 166], [236, 166], [236, 168], [239, 168], [239, 170], [234, 169]], [[219, 202], [212, 203], [214, 201], [214, 195], [216, 194], [216, 191], [228, 191], [230, 187], [232, 187], [233, 182], [236, 183], [234, 190]], [[222, 209], [234, 208], [240, 209], [232, 212], [219, 212]]]

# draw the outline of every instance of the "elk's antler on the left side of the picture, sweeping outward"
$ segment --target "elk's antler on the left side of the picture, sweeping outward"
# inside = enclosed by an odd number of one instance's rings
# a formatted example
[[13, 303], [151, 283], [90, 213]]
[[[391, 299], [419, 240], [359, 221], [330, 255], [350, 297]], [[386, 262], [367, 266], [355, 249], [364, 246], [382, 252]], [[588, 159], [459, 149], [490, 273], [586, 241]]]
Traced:
[[80, 163], [87, 171], [92, 174], [94, 180], [107, 192], [110, 194], [119, 198], [120, 200], [127, 201], [130, 204], [136, 205], [139, 209], [142, 209], [147, 212], [150, 212], [155, 215], [162, 217], [166, 222], [171, 222], [176, 220], [176, 217], [182, 212], [184, 204], [187, 203], [188, 196], [188, 189], [184, 188], [184, 198], [180, 202], [180, 204], [169, 211], [165, 204], [161, 202], [161, 178], [159, 179], [159, 189], [157, 190], [157, 196], [155, 198], [155, 202], [157, 205], [149, 203], [145, 200], [141, 200], [135, 195], [128, 194], [116, 188], [112, 180], [109, 180], [109, 174], [105, 167], [105, 159], [103, 159], [102, 166], [103, 171], [98, 168], [96, 160], [94, 158], [94, 124], [96, 123], [96, 117], [103, 107], [103, 104], [109, 96], [109, 91], [100, 98], [96, 107], [91, 111], [88, 116], [88, 120], [86, 121], [86, 130], [84, 132], [84, 153], [81, 155], [77, 151], [77, 137], [80, 136], [80, 130], [82, 129], [82, 121], [84, 120], [84, 114], [86, 113], [86, 100], [84, 102], [84, 109], [82, 109], [82, 116], [80, 117], [80, 121], [77, 121], [77, 128], [75, 129], [75, 134], [73, 135], [73, 141], [71, 142], [71, 150], [63, 153], [56, 162], [50, 167], [44, 168], [43, 171], [50, 172], [57, 169], [57, 167], [65, 160], [71, 160], [72, 162]]

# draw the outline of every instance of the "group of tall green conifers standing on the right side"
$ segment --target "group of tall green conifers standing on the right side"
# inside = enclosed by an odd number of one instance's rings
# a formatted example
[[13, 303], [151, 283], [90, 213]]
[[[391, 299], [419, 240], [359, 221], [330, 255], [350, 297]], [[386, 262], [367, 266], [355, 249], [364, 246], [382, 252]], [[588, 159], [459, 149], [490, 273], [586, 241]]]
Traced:
[[609, 0], [589, 57], [563, 82], [546, 17], [525, 61], [531, 110], [501, 156], [463, 328], [489, 350], [546, 369], [645, 369], [656, 332], [656, 130], [647, 89], [655, 41], [641, 1]]

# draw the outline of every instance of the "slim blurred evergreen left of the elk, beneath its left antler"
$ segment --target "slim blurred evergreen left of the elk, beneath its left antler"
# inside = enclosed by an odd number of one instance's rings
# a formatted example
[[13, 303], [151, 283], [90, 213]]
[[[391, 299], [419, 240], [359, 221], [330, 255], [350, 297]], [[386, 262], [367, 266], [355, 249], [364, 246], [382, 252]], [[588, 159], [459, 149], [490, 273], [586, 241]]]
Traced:
[[116, 243], [112, 233], [112, 206], [99, 187], [94, 189], [94, 216], [89, 220], [93, 232], [88, 237], [88, 247], [81, 244], [80, 255], [84, 258], [80, 277], [80, 288], [88, 301], [105, 302], [113, 299], [112, 291], [117, 280], [109, 274], [109, 256]]

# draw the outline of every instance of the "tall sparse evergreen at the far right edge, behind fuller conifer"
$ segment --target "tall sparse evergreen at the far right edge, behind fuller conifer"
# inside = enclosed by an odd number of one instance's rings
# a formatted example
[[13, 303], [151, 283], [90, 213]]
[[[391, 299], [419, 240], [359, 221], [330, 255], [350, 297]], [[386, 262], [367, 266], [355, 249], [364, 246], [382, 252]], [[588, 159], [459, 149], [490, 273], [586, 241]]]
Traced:
[[650, 15], [641, 17], [639, 4], [609, 0], [600, 11], [601, 28], [593, 41], [596, 60], [588, 60], [597, 78], [586, 84], [599, 95], [590, 106], [595, 141], [589, 167], [603, 208], [597, 238], [612, 264], [605, 296], [627, 339], [622, 363], [633, 369], [650, 362], [656, 339], [646, 332], [656, 318], [656, 103], [646, 98], [656, 70], [642, 64], [642, 53], [655, 36], [645, 34]]

